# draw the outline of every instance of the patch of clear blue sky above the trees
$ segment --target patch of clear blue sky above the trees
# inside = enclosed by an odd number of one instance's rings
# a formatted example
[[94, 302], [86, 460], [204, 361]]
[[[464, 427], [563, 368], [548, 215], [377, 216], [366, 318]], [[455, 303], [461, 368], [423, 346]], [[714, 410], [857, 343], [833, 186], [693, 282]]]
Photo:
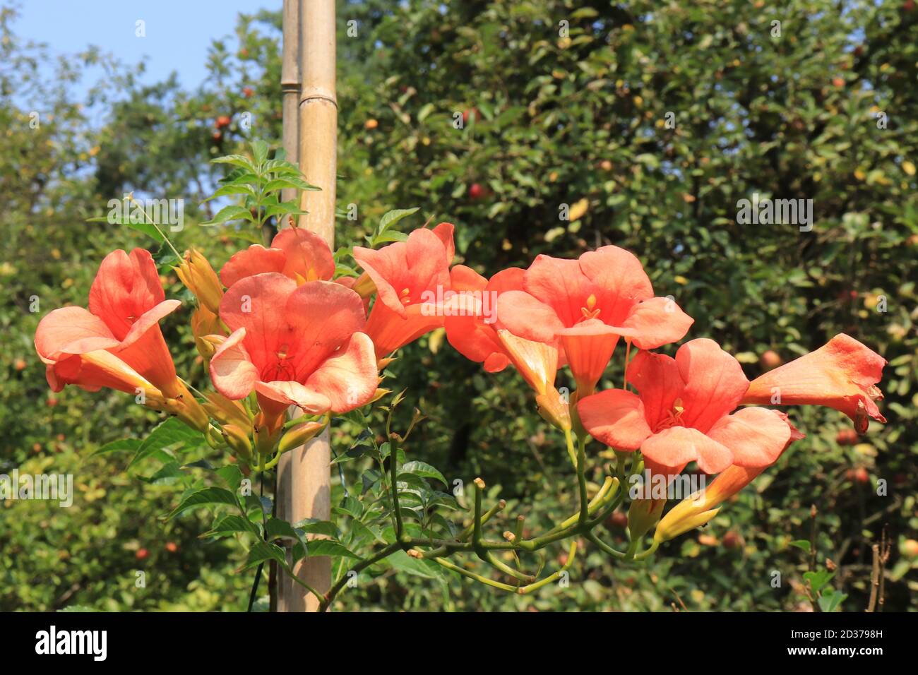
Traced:
[[[185, 88], [200, 84], [207, 69], [210, 40], [233, 33], [236, 16], [281, 7], [281, 0], [25, 0], [14, 32], [46, 42], [54, 54], [70, 54], [95, 45], [126, 64], [146, 57], [148, 84], [179, 74]], [[135, 35], [138, 19], [146, 37]]]

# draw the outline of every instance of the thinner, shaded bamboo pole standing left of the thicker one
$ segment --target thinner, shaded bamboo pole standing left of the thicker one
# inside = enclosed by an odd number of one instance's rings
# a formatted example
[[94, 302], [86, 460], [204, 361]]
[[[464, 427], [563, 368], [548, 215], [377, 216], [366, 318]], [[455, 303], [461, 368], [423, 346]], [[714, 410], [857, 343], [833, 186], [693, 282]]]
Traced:
[[[299, 157], [299, 4], [300, 0], [284, 0], [283, 31], [284, 42], [281, 53], [281, 92], [283, 96], [283, 145], [288, 162], [297, 163]], [[284, 201], [297, 197], [297, 190], [287, 189], [281, 193]], [[280, 223], [280, 227], [287, 227], [289, 223]], [[296, 415], [298, 409], [291, 408], [291, 414]], [[274, 499], [277, 503], [277, 516], [289, 523], [297, 523], [293, 515], [294, 480], [291, 469], [292, 456], [288, 453], [281, 457], [277, 464], [277, 485]], [[292, 563], [289, 549], [287, 549], [287, 562]], [[292, 596], [300, 596], [297, 600], [299, 611], [304, 608], [303, 599], [299, 591], [301, 587], [294, 583], [285, 574], [277, 579], [276, 609], [282, 612], [294, 611]]]

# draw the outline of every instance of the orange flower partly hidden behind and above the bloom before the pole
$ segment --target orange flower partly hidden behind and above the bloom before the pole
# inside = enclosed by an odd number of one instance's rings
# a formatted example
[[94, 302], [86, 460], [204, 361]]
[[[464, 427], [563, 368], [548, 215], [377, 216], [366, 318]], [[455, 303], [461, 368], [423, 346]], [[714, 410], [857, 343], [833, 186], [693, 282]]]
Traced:
[[325, 281], [334, 276], [335, 261], [329, 245], [315, 232], [302, 228], [279, 231], [271, 248], [253, 244], [235, 253], [220, 270], [220, 281], [230, 287], [246, 276], [276, 272], [297, 284]]

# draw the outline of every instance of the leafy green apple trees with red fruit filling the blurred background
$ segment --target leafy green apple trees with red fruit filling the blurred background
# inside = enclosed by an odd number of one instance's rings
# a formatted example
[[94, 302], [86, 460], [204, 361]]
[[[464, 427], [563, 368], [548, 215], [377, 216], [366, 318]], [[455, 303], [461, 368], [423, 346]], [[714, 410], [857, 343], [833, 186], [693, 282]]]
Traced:
[[[11, 10], [0, 12], [0, 473], [71, 472], [77, 492], [67, 510], [0, 503], [0, 609], [244, 608], [251, 579], [233, 573], [239, 551], [196, 539], [194, 514], [157, 522], [178, 497], [170, 480], [92, 456], [142, 433], [153, 413], [118, 393], [50, 394], [32, 336], [50, 309], [84, 304], [107, 251], [151, 245], [139, 232], [85, 222], [126, 191], [184, 198], [174, 241], [202, 247], [215, 265], [245, 245], [232, 226], [215, 237], [196, 222], [212, 215], [200, 202], [222, 175], [211, 158], [244, 152], [252, 139], [279, 145], [280, 12], [239, 17], [236, 34], [213, 43], [210, 77], [193, 91], [174, 79], [140, 84], [96, 50], [56, 61], [17, 38]], [[866, 606], [870, 545], [884, 527], [894, 544], [887, 608], [913, 607], [915, 4], [364, 0], [340, 2], [338, 14], [339, 245], [361, 243], [387, 210], [410, 207], [420, 207], [411, 227], [455, 223], [457, 262], [486, 276], [538, 253], [576, 257], [614, 243], [641, 258], [657, 295], [695, 317], [692, 336], [738, 354], [747, 377], [768, 350], [789, 360], [837, 332], [890, 361], [881, 383], [889, 423], [839, 444], [850, 426], [840, 413], [789, 411], [807, 438], [709, 528], [644, 568], [588, 548], [569, 588], [525, 598], [409, 569], [415, 575], [348, 591], [343, 606], [808, 607], [810, 556], [794, 542], [811, 538], [815, 506], [816, 566], [832, 561], [834, 587], [848, 596], [842, 608]], [[67, 84], [98, 62], [110, 77], [75, 100]], [[218, 126], [221, 116], [229, 126]], [[812, 231], [739, 224], [737, 202], [754, 193], [812, 199]], [[168, 266], [162, 277], [167, 294], [190, 299]], [[187, 347], [174, 350], [176, 367], [203, 382], [187, 314], [178, 314], [167, 322], [167, 337]], [[515, 373], [487, 375], [442, 332], [403, 350], [390, 370], [428, 416], [413, 456], [448, 478], [482, 476], [508, 499], [508, 519], [526, 512], [539, 523], [576, 508], [563, 445], [533, 422]], [[621, 366], [606, 375], [620, 382]], [[339, 449], [353, 441], [346, 425], [333, 438]], [[359, 485], [360, 462], [342, 467], [346, 484]], [[337, 480], [335, 490], [333, 501], [343, 494]], [[623, 538], [620, 519], [609, 527]], [[140, 549], [153, 578], [142, 590]], [[561, 546], [554, 553], [564, 556]]]

